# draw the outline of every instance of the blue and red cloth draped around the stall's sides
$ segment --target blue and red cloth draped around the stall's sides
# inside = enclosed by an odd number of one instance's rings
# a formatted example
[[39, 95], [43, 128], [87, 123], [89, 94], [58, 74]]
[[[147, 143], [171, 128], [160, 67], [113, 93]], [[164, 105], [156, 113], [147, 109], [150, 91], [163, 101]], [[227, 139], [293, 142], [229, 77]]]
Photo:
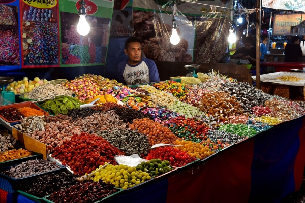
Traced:
[[[304, 153], [303, 116], [104, 202], [280, 202], [300, 190]], [[5, 194], [2, 202], [34, 202]]]

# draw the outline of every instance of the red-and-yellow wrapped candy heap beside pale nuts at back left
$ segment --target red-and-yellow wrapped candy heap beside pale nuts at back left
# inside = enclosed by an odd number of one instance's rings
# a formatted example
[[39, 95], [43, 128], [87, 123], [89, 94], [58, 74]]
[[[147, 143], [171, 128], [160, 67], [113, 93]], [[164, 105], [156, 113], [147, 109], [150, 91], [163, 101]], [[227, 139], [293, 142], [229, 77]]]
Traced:
[[75, 92], [76, 96], [81, 101], [93, 98], [97, 95], [102, 95], [97, 83], [90, 77], [76, 78], [68, 81], [66, 87]]

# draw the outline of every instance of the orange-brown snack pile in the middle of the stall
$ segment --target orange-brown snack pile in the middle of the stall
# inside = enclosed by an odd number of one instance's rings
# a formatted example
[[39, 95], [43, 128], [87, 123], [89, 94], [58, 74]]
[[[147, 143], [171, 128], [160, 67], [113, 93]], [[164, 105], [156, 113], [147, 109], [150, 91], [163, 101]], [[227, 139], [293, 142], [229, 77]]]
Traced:
[[136, 119], [129, 127], [133, 130], [146, 134], [150, 146], [158, 143], [174, 144], [178, 139], [167, 127], [148, 118]]

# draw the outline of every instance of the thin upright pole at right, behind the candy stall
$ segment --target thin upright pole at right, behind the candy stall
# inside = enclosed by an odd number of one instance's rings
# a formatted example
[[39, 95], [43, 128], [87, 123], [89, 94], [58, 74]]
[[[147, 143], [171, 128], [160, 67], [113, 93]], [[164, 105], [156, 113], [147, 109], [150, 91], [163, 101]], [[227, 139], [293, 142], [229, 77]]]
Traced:
[[[261, 8], [261, 0], [256, 0], [256, 8]], [[256, 12], [256, 88], [260, 89], [260, 21], [261, 11]]]

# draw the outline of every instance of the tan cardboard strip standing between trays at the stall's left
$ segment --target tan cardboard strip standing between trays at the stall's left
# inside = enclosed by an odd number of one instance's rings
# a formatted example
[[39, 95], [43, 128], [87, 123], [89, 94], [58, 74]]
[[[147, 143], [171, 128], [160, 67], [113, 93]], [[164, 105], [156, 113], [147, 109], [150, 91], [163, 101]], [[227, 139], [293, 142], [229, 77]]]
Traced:
[[41, 153], [43, 155], [43, 159], [47, 159], [47, 145], [39, 142], [38, 140], [35, 140], [32, 137], [27, 136], [27, 134], [24, 134], [17, 130], [16, 128], [12, 128], [12, 134], [13, 137], [18, 140], [22, 145], [24, 145], [25, 149]]

